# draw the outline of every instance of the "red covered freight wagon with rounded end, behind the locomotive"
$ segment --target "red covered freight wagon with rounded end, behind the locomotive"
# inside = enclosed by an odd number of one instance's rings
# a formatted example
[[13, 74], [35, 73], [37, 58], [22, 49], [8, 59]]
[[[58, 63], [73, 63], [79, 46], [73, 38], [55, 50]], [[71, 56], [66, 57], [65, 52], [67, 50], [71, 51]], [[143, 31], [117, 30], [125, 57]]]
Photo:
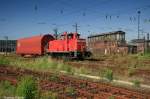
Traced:
[[19, 39], [17, 40], [16, 53], [22, 56], [43, 55], [51, 40], [54, 40], [54, 37], [50, 34]]

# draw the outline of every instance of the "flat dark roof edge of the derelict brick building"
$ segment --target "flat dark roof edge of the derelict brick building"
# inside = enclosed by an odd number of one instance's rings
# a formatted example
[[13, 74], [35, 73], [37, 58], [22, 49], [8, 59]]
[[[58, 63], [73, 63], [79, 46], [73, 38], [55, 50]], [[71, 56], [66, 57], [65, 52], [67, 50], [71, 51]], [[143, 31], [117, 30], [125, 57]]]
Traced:
[[108, 32], [108, 33], [90, 35], [90, 36], [88, 36], [88, 38], [104, 36], [104, 35], [116, 35], [116, 34], [125, 34], [125, 32], [123, 32], [123, 31], [113, 31], [113, 32]]

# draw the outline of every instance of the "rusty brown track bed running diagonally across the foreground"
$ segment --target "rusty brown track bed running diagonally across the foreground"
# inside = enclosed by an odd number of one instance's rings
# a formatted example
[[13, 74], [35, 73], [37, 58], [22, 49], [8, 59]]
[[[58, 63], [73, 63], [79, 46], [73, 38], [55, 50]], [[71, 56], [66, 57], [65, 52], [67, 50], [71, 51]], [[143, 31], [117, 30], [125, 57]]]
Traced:
[[[114, 87], [109, 84], [81, 80], [65, 75], [54, 75], [53, 73], [31, 71], [27, 69], [0, 66], [0, 80], [10, 81], [16, 85], [17, 78], [24, 75], [32, 75], [39, 78], [41, 90], [51, 90], [58, 93], [60, 99], [150, 99], [150, 95], [142, 92]], [[73, 88], [69, 93], [66, 88]]]

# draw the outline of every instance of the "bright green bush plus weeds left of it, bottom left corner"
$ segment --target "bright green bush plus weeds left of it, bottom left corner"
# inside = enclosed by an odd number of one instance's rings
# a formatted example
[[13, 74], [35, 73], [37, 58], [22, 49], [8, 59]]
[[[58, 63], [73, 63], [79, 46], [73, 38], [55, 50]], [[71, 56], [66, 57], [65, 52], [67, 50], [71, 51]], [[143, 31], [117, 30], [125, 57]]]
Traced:
[[37, 97], [39, 97], [37, 87], [38, 86], [31, 77], [22, 77], [21, 81], [17, 84], [17, 86], [13, 86], [8, 81], [1, 81], [0, 99], [5, 99], [9, 97], [11, 99], [14, 99], [14, 97], [20, 97], [19, 99], [37, 99]]

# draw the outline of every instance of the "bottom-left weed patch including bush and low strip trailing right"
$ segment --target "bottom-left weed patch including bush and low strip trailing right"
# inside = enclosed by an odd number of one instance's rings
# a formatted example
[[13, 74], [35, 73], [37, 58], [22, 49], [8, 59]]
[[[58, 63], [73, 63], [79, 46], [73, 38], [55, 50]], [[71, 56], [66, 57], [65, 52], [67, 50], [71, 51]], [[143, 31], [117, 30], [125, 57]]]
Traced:
[[37, 80], [31, 76], [21, 77], [17, 86], [8, 81], [0, 82], [0, 99], [57, 99], [51, 91], [42, 92]]

